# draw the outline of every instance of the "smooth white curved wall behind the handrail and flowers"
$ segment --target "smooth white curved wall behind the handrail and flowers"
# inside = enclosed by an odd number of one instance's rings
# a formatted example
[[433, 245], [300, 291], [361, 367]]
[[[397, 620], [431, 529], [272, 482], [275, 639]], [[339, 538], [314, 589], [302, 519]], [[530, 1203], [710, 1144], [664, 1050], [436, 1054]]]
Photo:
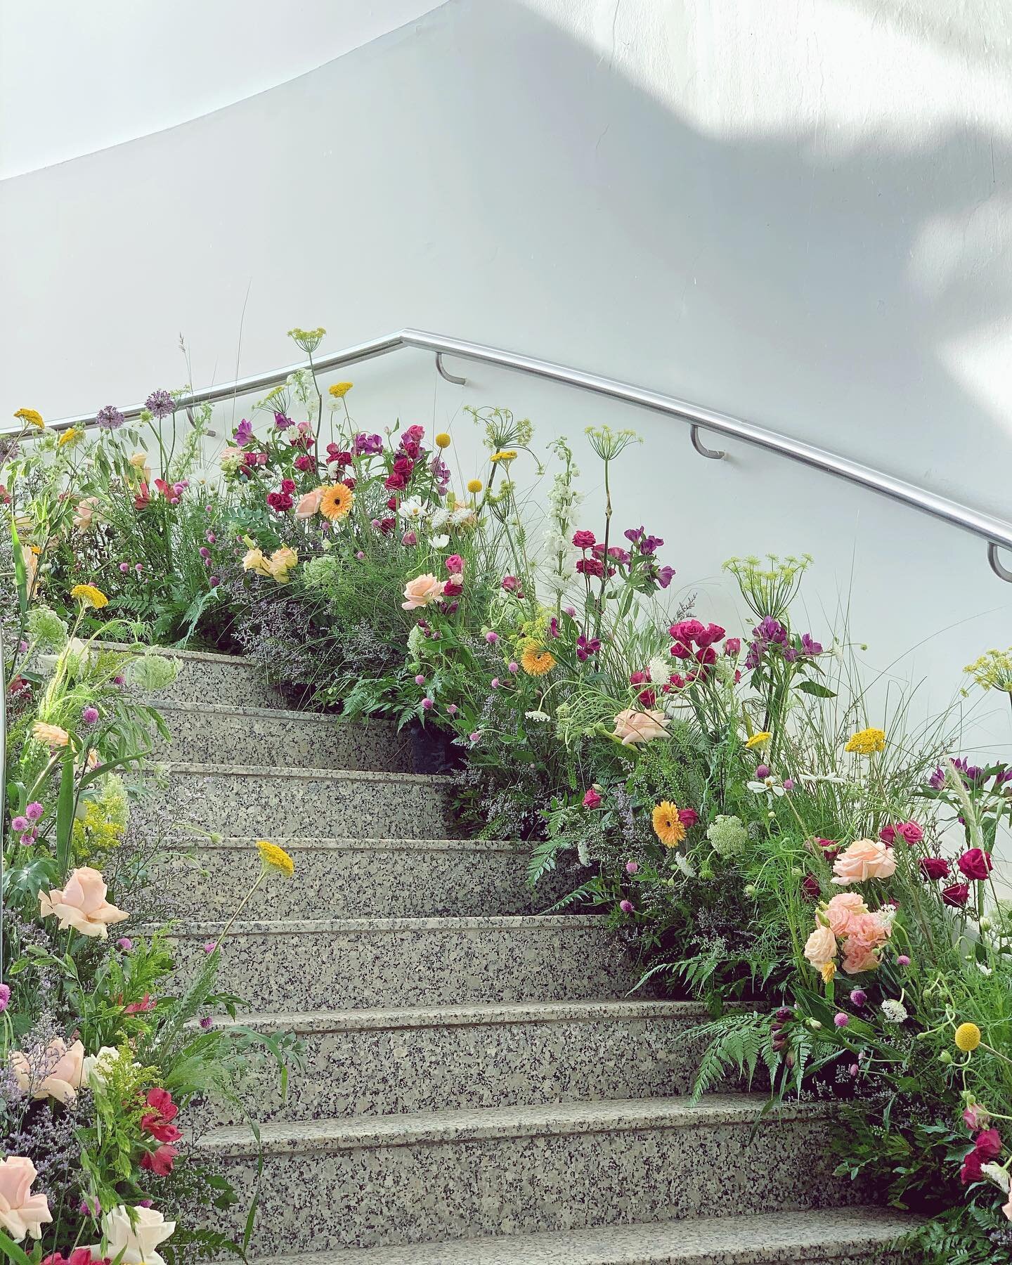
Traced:
[[[452, 0], [182, 126], [0, 183], [0, 416], [125, 404], [412, 324], [626, 378], [1008, 516], [1012, 75], [999, 0]], [[297, 32], [292, 34], [296, 39]], [[13, 248], [11, 248], [13, 245]], [[734, 622], [720, 562], [816, 554], [884, 667], [1006, 645], [983, 544], [672, 423], [477, 367], [363, 366], [363, 424], [503, 404], [646, 438], [617, 514]], [[467, 458], [466, 458], [467, 460]], [[589, 471], [589, 455], [582, 460]], [[588, 521], [588, 525], [595, 524]], [[1008, 710], [984, 740], [1012, 751]]]

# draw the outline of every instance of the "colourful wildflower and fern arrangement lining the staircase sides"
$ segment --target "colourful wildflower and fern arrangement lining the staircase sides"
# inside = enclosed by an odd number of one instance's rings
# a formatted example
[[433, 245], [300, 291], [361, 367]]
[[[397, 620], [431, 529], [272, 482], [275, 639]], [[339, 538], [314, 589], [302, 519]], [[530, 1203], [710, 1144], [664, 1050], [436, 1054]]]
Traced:
[[[4, 474], [24, 597], [5, 619], [19, 643], [80, 664], [62, 649], [80, 634], [139, 620], [156, 641], [240, 649], [345, 721], [388, 716], [428, 735], [469, 829], [529, 840], [533, 884], [574, 867], [560, 907], [606, 910], [651, 987], [707, 1002], [697, 1094], [730, 1070], [775, 1099], [840, 1099], [827, 1141], [837, 1179], [931, 1213], [917, 1259], [1001, 1259], [1012, 1246], [1012, 908], [994, 855], [1012, 767], [960, 754], [955, 713], [915, 722], [910, 698], [864, 679], [845, 630], [796, 622], [807, 555], [730, 559], [735, 626], [694, 612], [664, 540], [619, 517], [612, 476], [636, 459], [632, 433], [591, 428], [581, 440], [603, 486], [596, 512], [577, 445], [553, 441], [543, 464], [531, 424], [509, 410], [458, 423], [478, 428], [484, 458], [452, 469], [450, 429], [430, 440], [420, 425], [355, 424], [353, 385], [316, 379], [323, 333], [291, 331], [310, 368], [231, 426], [213, 469], [199, 464], [209, 414], [178, 453], [175, 430], [159, 429], [171, 392], [149, 397], [140, 428], [110, 405], [97, 439], [65, 445], [22, 411], [33, 455], [15, 452]], [[545, 473], [539, 514], [530, 487]], [[9, 849], [25, 859], [14, 891], [33, 927], [91, 951], [129, 908], [104, 867], [118, 848], [109, 778], [129, 765], [137, 717], [110, 683], [115, 664], [104, 684], [65, 667], [48, 697], [18, 662], [14, 743], [28, 763], [10, 805]], [[966, 672], [968, 689], [1012, 694], [1009, 651]], [[83, 783], [92, 746], [116, 770], [82, 787], [91, 816], [61, 834], [43, 788], [68, 765]], [[261, 851], [257, 883], [291, 872], [281, 849]], [[33, 970], [43, 960], [19, 951]], [[78, 1054], [100, 1054], [83, 1037], [75, 1051], [76, 1030], [118, 1051], [134, 1041], [132, 1101], [163, 1088], [164, 1069], [161, 1082], [147, 1070], [162, 1066], [162, 1003], [126, 1011], [156, 996], [164, 960], [156, 937], [120, 951], [118, 974], [96, 968], [123, 994], [121, 1027], [77, 1013], [53, 1032], [51, 1088], [72, 1084]], [[29, 1022], [42, 1013], [19, 1004]], [[145, 1133], [153, 1109], [138, 1106], [145, 1171], [176, 1163], [157, 1159], [171, 1137]], [[113, 1198], [97, 1182], [81, 1195]], [[115, 1207], [109, 1216], [111, 1246]]]

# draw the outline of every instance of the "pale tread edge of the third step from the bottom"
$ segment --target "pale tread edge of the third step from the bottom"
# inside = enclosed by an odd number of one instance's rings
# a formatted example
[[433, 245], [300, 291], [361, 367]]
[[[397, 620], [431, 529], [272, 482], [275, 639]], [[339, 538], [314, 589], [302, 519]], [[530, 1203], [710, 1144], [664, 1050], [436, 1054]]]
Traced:
[[553, 1023], [595, 1020], [665, 1020], [707, 1016], [700, 1002], [601, 1001], [577, 1002], [482, 1002], [474, 1006], [412, 1006], [359, 1011], [273, 1011], [240, 1015], [231, 1020], [216, 1016], [215, 1027], [243, 1026], [257, 1031], [280, 1030], [312, 1034], [385, 1028], [464, 1027], [469, 1025]]

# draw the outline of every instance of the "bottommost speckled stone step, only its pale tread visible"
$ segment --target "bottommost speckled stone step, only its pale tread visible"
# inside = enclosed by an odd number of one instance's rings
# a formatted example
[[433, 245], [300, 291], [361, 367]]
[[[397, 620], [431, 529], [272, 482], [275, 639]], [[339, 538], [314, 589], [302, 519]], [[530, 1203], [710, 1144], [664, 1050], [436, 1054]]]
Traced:
[[256, 1265], [887, 1265], [920, 1225], [891, 1208], [687, 1217], [544, 1235], [258, 1257]]

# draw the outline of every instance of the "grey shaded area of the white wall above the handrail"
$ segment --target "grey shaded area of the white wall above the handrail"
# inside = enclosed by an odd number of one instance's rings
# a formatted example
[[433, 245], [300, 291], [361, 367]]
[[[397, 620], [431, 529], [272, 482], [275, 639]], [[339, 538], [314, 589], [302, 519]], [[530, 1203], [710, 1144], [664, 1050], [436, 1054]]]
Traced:
[[[6, 412], [40, 390], [54, 344], [51, 415], [177, 379], [180, 329], [204, 381], [200, 354], [224, 353], [252, 282], [245, 369], [283, 362], [300, 321], [329, 345], [416, 324], [1002, 512], [1006, 424], [942, 348], [1008, 321], [1011, 158], [969, 121], [835, 158], [791, 119], [703, 134], [524, 5], [454, 0], [258, 97], [0, 186], [19, 243], [3, 263], [0, 345], [20, 366]], [[968, 231], [985, 204], [990, 233]], [[918, 277], [926, 233], [945, 262]], [[996, 460], [968, 468], [969, 445]]]

